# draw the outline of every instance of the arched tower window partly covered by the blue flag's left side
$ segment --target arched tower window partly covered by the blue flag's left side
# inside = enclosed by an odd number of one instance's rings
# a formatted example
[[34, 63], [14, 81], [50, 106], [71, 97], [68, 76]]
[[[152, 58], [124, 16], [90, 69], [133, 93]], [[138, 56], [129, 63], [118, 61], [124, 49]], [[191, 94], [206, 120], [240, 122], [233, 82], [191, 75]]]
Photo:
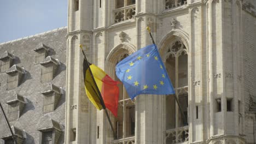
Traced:
[[[118, 117], [112, 117], [114, 129], [117, 132], [117, 140], [109, 143], [135, 143], [135, 99], [131, 100], [127, 94], [123, 83], [115, 75], [115, 66], [135, 52], [132, 45], [120, 44], [110, 51], [106, 59], [106, 72], [113, 77], [115, 81], [119, 81], [119, 100], [118, 100]], [[109, 133], [112, 133], [109, 129]]]

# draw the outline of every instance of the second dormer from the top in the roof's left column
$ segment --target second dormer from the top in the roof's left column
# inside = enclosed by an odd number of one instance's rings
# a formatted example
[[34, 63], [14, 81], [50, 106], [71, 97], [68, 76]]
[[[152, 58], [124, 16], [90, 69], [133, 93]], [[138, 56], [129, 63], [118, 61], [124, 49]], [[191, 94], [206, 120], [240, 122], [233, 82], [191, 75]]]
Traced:
[[25, 74], [24, 69], [18, 67], [16, 64], [13, 65], [9, 70], [5, 73], [8, 74], [7, 79], [7, 89], [17, 88], [22, 80], [23, 75]]

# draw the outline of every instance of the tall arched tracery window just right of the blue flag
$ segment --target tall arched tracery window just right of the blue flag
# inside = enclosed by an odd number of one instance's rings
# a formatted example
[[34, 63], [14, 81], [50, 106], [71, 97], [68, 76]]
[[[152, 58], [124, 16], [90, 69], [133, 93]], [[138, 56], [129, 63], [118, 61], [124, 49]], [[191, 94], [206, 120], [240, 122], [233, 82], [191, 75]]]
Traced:
[[166, 143], [188, 141], [188, 53], [180, 39], [176, 38], [167, 45], [165, 65], [176, 92], [176, 95], [166, 96]]

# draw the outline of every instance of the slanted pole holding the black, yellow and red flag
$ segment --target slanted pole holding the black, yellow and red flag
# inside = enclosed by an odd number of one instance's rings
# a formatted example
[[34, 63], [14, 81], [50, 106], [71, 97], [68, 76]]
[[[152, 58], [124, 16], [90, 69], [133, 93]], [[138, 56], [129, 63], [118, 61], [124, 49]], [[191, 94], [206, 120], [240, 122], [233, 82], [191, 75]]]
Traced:
[[89, 63], [88, 63], [88, 61], [87, 61], [87, 58], [86, 58], [86, 56], [85, 56], [85, 53], [84, 53], [84, 50], [83, 50], [82, 47], [83, 47], [83, 46], [80, 45], [80, 48], [81, 48], [81, 50], [82, 50], [82, 52], [83, 52], [83, 55], [84, 55], [84, 59], [85, 59], [85, 61], [86, 61], [86, 65], [87, 65], [87, 67], [89, 68], [90, 74], [91, 74], [91, 76], [92, 76], [92, 81], [94, 82], [94, 84], [95, 84], [95, 86], [96, 86], [96, 90], [97, 90], [97, 92], [98, 92], [98, 97], [100, 98], [101, 105], [102, 105], [104, 111], [106, 112], [106, 115], [107, 115], [107, 118], [108, 118], [108, 122], [109, 122], [110, 127], [111, 127], [111, 129], [112, 129], [112, 131], [113, 131], [114, 139], [117, 139], [117, 135], [115, 134], [113, 124], [112, 124], [112, 122], [110, 121], [110, 117], [109, 117], [109, 115], [108, 115], [108, 111], [107, 111], [107, 109], [106, 109], [106, 105], [104, 104], [104, 100], [103, 100], [103, 98], [102, 98], [100, 89], [98, 89], [97, 83], [96, 83], [96, 81], [95, 81], [95, 79], [94, 79], [94, 75], [93, 75], [92, 72], [91, 72], [90, 65], [89, 65]]

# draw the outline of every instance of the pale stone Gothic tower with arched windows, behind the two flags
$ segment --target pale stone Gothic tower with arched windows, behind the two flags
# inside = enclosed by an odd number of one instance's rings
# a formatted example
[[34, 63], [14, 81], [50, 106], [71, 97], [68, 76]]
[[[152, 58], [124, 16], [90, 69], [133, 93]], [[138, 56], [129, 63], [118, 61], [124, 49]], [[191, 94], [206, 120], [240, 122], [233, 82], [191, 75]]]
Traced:
[[[68, 1], [66, 143], [255, 143], [255, 1]], [[86, 56], [115, 80], [115, 65], [152, 44], [174, 95], [126, 99], [119, 117], [96, 111], [83, 85]], [[251, 102], [250, 102], [251, 101]], [[132, 112], [135, 109], [135, 112]], [[133, 123], [135, 126], [133, 126]], [[135, 129], [133, 131], [133, 129]]]

